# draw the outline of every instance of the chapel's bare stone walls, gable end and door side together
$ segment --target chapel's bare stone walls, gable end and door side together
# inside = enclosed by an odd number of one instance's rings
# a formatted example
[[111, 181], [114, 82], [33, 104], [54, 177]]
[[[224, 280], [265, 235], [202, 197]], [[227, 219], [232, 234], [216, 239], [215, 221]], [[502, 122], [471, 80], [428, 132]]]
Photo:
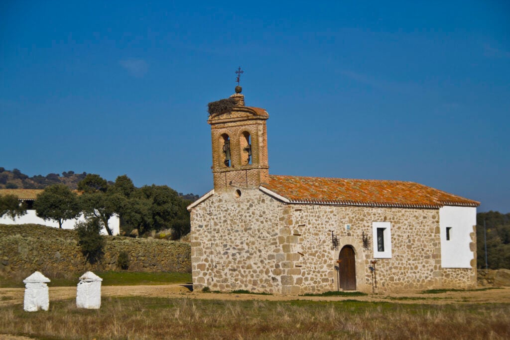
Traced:
[[[350, 245], [356, 289], [371, 292], [372, 222], [383, 221], [391, 223], [392, 257], [376, 259], [378, 291], [476, 286], [476, 269], [441, 268], [438, 210], [285, 204], [258, 189], [241, 188], [241, 197], [235, 190], [215, 193], [191, 212], [195, 289], [334, 291], [336, 260]], [[339, 239], [337, 250], [331, 231]]]

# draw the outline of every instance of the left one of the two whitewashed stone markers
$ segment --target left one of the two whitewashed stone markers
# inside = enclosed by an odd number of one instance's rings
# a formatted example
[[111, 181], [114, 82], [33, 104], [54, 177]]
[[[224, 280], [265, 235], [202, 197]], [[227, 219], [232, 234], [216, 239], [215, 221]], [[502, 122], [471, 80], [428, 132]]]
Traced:
[[25, 298], [23, 301], [24, 310], [48, 310], [49, 297], [48, 285], [46, 282], [50, 282], [50, 280], [40, 272], [34, 272], [34, 274], [23, 280], [23, 283], [25, 284]]

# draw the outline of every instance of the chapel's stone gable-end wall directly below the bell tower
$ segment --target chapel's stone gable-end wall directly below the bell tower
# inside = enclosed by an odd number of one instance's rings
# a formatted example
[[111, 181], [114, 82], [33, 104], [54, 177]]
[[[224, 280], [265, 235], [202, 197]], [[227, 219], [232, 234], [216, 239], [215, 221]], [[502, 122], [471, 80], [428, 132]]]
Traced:
[[[280, 275], [269, 247], [283, 228], [283, 205], [258, 189], [214, 194], [191, 212], [193, 287], [279, 293]], [[272, 254], [272, 253], [271, 253]]]

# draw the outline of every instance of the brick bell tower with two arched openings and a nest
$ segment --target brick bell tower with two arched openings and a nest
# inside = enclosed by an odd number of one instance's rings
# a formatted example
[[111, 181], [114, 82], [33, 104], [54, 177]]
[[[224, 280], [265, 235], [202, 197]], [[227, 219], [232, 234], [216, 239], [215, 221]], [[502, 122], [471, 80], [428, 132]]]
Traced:
[[[239, 80], [239, 77], [238, 77]], [[269, 180], [266, 110], [244, 105], [242, 88], [209, 103], [215, 192], [258, 188]]]

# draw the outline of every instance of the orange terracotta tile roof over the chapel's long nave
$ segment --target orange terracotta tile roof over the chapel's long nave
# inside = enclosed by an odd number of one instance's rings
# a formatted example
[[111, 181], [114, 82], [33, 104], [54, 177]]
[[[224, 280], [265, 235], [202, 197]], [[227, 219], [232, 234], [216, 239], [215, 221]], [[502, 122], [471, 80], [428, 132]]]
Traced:
[[269, 176], [264, 188], [292, 203], [425, 207], [478, 206], [480, 202], [399, 180]]

